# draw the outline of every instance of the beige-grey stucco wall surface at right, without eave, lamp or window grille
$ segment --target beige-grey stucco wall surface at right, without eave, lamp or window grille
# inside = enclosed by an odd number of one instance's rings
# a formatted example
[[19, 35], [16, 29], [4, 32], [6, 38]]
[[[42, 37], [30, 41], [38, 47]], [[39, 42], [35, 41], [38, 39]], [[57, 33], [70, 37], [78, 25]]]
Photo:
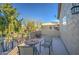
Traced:
[[72, 4], [62, 4], [60, 21], [66, 16], [67, 24], [61, 25], [61, 38], [70, 54], [79, 54], [79, 15], [71, 14]]

